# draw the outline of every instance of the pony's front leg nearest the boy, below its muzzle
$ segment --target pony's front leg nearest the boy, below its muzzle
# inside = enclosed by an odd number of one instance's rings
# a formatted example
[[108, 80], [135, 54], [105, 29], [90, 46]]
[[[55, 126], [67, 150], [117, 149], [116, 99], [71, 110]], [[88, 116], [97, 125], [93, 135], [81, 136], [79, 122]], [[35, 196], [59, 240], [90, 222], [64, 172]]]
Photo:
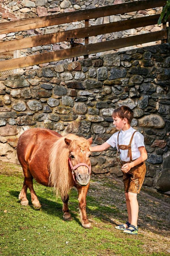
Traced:
[[88, 221], [86, 214], [86, 195], [89, 189], [89, 185], [90, 183], [88, 183], [88, 185], [85, 187], [77, 187], [81, 223], [84, 228], [91, 228], [91, 223]]

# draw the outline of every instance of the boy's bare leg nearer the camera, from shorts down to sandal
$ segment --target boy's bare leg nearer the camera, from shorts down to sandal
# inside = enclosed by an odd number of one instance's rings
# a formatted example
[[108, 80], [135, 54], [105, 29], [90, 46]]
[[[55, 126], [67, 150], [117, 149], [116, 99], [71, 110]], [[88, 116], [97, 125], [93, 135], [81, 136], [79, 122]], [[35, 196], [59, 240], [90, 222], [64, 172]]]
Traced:
[[128, 192], [128, 198], [131, 209], [131, 225], [137, 227], [137, 218], [138, 218], [138, 201], [137, 201], [137, 193]]

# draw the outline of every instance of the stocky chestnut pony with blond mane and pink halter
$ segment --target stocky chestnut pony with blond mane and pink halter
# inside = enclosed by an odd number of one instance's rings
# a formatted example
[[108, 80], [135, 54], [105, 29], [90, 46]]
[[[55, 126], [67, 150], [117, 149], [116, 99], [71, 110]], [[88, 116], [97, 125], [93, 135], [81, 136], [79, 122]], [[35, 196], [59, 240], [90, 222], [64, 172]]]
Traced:
[[63, 201], [64, 220], [71, 220], [68, 208], [69, 191], [75, 186], [78, 190], [82, 226], [90, 228], [91, 223], [86, 216], [86, 195], [90, 181], [91, 143], [92, 138], [86, 140], [73, 134], [62, 137], [59, 133], [45, 128], [25, 131], [19, 137], [17, 145], [18, 160], [25, 176], [19, 195], [21, 204], [28, 205], [29, 187], [33, 207], [41, 207], [33, 189], [34, 178], [44, 186], [54, 187], [56, 195], [60, 194]]

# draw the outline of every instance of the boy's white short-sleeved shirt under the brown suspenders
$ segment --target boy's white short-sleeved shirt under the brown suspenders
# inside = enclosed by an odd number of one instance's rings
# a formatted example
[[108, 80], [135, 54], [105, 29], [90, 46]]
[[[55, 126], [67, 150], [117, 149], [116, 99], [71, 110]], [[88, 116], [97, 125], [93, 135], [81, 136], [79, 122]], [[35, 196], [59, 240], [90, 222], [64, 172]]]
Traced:
[[[132, 127], [130, 127], [128, 130], [126, 131], [120, 131], [119, 134], [119, 145], [129, 145], [130, 139], [132, 134], [134, 133], [134, 131], [136, 131], [135, 129], [133, 129]], [[111, 145], [113, 148], [118, 145], [118, 132], [114, 133], [107, 141], [106, 141], [109, 145]], [[134, 134], [133, 136], [133, 140], [131, 143], [131, 150], [132, 150], [132, 159], [135, 160], [137, 158], [139, 158], [140, 151], [138, 149], [138, 147], [145, 147], [144, 144], [144, 137], [141, 133], [139, 133], [138, 131]], [[118, 149], [118, 148], [117, 148]], [[130, 161], [130, 158], [127, 157], [128, 155], [128, 149], [126, 150], [122, 150], [120, 149], [120, 158], [122, 159], [122, 161], [128, 162]]]

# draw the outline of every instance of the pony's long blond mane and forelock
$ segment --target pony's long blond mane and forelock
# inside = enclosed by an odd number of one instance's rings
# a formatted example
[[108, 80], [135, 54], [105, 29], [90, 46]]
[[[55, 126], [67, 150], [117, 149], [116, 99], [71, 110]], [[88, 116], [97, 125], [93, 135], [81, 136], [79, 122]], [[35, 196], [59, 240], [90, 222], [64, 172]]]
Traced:
[[[64, 139], [72, 140], [72, 143], [68, 146]], [[88, 141], [82, 137], [78, 137], [74, 134], [67, 134], [64, 137], [59, 138], [52, 146], [49, 157], [50, 178], [49, 184], [54, 187], [56, 196], [61, 196], [61, 199], [65, 199], [69, 194], [71, 187], [73, 187], [73, 177], [69, 170], [68, 158], [69, 151], [72, 150], [73, 144], [86, 145]]]

